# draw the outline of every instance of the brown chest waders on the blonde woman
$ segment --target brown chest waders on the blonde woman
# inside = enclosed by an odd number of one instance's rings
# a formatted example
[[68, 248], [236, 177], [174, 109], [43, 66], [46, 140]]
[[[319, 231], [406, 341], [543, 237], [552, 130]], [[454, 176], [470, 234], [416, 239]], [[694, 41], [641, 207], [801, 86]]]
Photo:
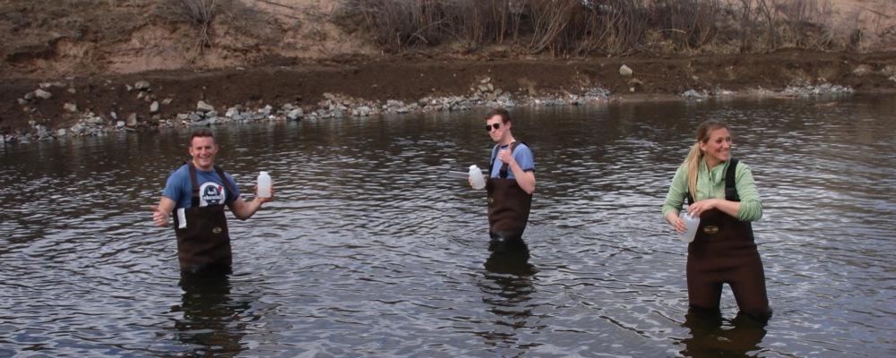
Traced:
[[[725, 175], [725, 199], [740, 201], [735, 187], [737, 159]], [[687, 194], [688, 204], [694, 202]], [[722, 284], [727, 283], [740, 311], [757, 318], [771, 315], [765, 273], [754, 242], [753, 226], [719, 209], [705, 211], [694, 242], [687, 245], [687, 295], [690, 306], [718, 311]]]

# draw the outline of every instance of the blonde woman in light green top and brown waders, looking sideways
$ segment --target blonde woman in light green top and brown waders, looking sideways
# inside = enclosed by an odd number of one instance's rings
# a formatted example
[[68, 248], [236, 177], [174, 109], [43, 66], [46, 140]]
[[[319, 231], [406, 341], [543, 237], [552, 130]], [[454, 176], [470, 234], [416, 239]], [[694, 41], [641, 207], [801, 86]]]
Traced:
[[751, 222], [762, 217], [762, 202], [750, 167], [731, 158], [728, 126], [706, 121], [697, 127], [697, 141], [678, 167], [663, 204], [663, 217], [679, 233], [685, 222], [679, 210], [700, 217], [687, 246], [687, 295], [695, 311], [719, 311], [722, 284], [731, 287], [742, 313], [771, 317], [762, 260]]

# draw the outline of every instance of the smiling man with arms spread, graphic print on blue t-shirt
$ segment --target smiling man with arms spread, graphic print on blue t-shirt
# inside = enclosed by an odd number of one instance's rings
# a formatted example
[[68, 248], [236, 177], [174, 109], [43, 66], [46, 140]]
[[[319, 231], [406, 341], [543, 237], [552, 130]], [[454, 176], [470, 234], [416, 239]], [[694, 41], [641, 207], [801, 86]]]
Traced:
[[263, 203], [273, 200], [272, 188], [268, 198], [240, 198], [233, 177], [215, 166], [219, 149], [211, 132], [194, 132], [189, 147], [193, 160], [168, 177], [159, 206], [152, 213], [157, 226], [168, 226], [168, 217], [177, 212], [177, 258], [186, 272], [229, 272], [232, 258], [224, 207], [246, 220]]

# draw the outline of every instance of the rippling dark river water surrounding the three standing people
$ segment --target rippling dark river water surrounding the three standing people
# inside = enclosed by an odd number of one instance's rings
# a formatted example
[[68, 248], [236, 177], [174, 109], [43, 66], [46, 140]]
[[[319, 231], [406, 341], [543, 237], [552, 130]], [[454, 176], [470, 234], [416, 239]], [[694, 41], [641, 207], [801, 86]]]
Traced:
[[[0, 356], [896, 354], [896, 98], [518, 108], [530, 258], [487, 251], [482, 110], [213, 128], [244, 197], [234, 273], [181, 277], [150, 206], [187, 131], [0, 149]], [[774, 317], [685, 315], [660, 207], [696, 124], [731, 124], [765, 208]], [[229, 214], [228, 214], [229, 217]]]

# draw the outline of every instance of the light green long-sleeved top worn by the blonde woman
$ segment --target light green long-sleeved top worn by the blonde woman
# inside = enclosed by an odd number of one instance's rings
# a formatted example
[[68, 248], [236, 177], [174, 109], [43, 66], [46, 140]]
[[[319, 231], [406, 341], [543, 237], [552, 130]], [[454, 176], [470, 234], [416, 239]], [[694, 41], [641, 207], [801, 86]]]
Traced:
[[[722, 163], [707, 169], [706, 162], [700, 161], [700, 172], [697, 175], [697, 193], [694, 200], [725, 199], [725, 172], [728, 163]], [[759, 200], [759, 192], [756, 192], [756, 184], [753, 181], [753, 172], [743, 161], [735, 170], [735, 187], [740, 196], [740, 209], [737, 210], [737, 219], [741, 221], [756, 221], [762, 217], [762, 201]], [[669, 192], [666, 194], [666, 202], [663, 203], [663, 217], [669, 211], [678, 212], [687, 198], [687, 166], [678, 166]]]

